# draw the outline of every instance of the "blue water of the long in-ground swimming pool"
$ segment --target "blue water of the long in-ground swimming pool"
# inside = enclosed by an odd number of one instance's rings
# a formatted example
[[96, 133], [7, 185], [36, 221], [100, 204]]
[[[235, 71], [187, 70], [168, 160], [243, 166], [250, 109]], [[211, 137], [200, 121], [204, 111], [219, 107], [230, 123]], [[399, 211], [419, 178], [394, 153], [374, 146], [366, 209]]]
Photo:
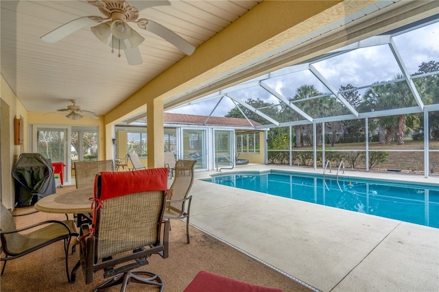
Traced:
[[439, 186], [273, 170], [204, 181], [439, 228]]

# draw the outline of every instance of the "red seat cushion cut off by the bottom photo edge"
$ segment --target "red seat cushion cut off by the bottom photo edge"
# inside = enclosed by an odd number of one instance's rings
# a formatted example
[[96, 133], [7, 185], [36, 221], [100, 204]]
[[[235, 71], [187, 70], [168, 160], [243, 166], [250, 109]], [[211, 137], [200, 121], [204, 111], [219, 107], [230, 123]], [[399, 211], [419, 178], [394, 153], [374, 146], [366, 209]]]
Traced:
[[248, 284], [209, 271], [200, 271], [183, 292], [283, 292], [283, 290]]

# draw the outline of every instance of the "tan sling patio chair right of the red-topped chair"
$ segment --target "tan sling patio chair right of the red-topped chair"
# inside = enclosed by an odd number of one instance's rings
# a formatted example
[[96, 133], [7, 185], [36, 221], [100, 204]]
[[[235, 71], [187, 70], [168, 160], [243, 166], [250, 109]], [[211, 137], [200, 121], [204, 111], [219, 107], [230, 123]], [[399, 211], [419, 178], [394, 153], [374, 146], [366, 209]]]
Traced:
[[192, 200], [189, 191], [191, 191], [193, 169], [196, 163], [197, 160], [178, 160], [176, 162], [176, 174], [169, 188], [164, 216], [165, 219], [186, 219], [187, 243], [189, 243], [189, 211]]

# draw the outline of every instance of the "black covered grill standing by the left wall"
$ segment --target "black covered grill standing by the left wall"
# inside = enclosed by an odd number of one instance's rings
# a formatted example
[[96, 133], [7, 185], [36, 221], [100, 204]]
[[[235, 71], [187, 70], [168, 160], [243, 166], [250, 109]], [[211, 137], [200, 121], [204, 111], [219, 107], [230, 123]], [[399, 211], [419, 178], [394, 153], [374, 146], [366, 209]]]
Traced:
[[12, 169], [16, 207], [35, 204], [56, 193], [54, 169], [50, 160], [38, 153], [22, 153]]

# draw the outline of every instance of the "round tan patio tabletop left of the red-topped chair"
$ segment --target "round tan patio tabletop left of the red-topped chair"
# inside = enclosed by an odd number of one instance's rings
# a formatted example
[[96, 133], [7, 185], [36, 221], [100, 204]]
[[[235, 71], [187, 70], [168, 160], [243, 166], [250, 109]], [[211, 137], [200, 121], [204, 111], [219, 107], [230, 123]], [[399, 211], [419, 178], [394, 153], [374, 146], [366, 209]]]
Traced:
[[48, 195], [35, 203], [40, 212], [59, 214], [88, 214], [93, 212], [91, 200], [93, 188], [77, 188], [66, 193]]

